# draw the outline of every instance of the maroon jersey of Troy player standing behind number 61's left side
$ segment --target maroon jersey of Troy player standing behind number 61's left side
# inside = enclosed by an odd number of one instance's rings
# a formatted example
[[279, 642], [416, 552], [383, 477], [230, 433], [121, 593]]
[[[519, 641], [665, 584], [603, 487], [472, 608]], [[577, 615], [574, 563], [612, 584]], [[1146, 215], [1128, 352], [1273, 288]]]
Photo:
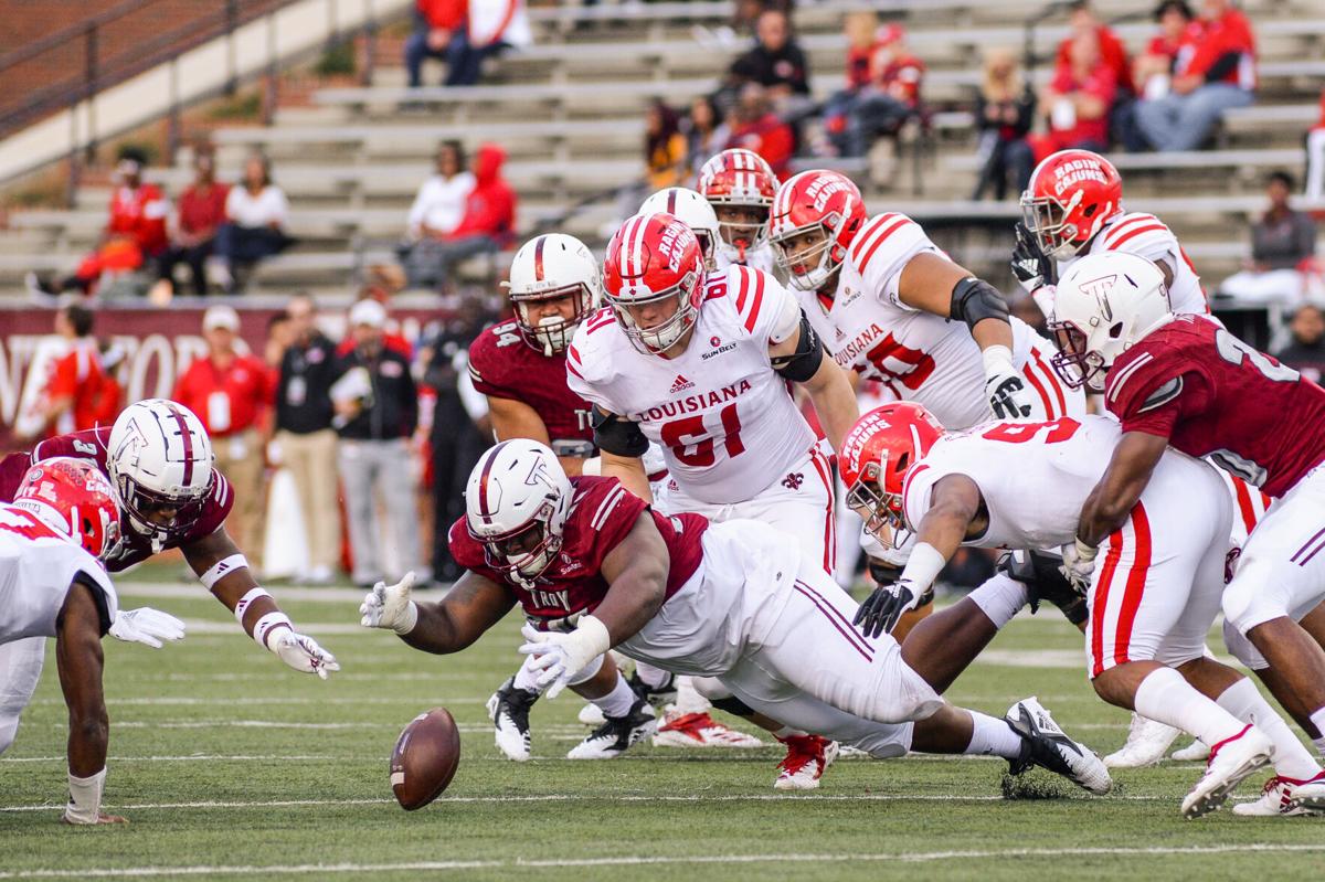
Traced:
[[515, 319], [485, 330], [469, 347], [474, 388], [497, 399], [534, 408], [556, 456], [591, 457], [594, 426], [590, 404], [566, 385], [566, 354], [543, 355], [519, 332]]

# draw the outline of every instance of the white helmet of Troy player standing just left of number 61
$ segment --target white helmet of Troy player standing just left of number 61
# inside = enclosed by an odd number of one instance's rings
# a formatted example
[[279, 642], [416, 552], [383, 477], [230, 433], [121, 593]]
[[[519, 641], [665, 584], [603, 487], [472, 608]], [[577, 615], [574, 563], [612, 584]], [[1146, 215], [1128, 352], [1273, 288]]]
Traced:
[[[594, 252], [564, 233], [535, 236], [521, 245], [510, 264], [510, 281], [502, 282], [502, 287], [510, 290], [515, 323], [525, 342], [545, 355], [562, 352], [570, 346], [575, 327], [598, 309], [603, 293]], [[575, 298], [575, 315], [545, 315], [537, 323], [530, 319], [530, 303], [562, 297]]]

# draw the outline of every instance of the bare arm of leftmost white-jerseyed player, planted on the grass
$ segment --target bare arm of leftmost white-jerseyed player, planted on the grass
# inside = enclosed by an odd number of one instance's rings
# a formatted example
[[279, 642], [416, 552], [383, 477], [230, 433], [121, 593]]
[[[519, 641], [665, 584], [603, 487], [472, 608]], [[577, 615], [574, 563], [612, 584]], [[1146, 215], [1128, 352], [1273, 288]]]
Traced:
[[69, 804], [66, 824], [114, 824], [125, 818], [101, 813], [106, 783], [110, 720], [102, 693], [101, 609], [94, 591], [76, 580], [56, 624], [56, 663], [69, 707]]

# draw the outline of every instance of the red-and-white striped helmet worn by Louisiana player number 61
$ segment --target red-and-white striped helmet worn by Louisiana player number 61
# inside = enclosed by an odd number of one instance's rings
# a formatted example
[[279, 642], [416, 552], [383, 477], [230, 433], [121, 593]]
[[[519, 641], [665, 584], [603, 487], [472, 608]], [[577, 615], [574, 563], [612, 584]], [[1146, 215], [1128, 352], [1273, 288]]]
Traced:
[[[640, 352], [659, 355], [694, 326], [704, 301], [704, 254], [694, 232], [672, 215], [636, 215], [616, 230], [603, 261], [603, 297]], [[652, 320], [653, 305], [676, 299], [669, 315]], [[644, 313], [648, 326], [640, 324]]]

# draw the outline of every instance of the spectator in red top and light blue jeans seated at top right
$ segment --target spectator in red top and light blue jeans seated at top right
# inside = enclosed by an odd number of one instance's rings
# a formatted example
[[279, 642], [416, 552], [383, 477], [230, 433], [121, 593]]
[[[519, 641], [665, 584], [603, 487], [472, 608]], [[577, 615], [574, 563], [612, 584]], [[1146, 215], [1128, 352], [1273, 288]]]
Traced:
[[1203, 0], [1190, 49], [1178, 53], [1169, 94], [1137, 106], [1141, 134], [1159, 151], [1200, 147], [1226, 110], [1255, 101], [1255, 38], [1228, 0]]

